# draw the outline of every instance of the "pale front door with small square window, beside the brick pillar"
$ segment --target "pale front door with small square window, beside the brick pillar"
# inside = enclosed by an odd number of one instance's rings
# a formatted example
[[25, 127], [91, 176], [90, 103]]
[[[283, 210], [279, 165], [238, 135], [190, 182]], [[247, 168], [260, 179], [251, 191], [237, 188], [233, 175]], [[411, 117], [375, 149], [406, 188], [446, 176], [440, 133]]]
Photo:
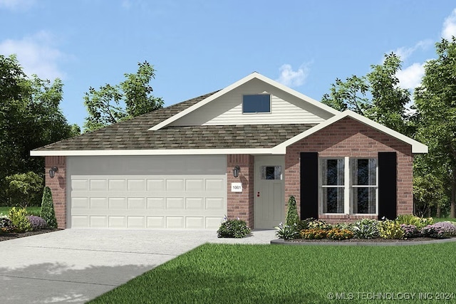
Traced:
[[254, 169], [254, 226], [273, 229], [284, 221], [285, 157], [256, 156]]

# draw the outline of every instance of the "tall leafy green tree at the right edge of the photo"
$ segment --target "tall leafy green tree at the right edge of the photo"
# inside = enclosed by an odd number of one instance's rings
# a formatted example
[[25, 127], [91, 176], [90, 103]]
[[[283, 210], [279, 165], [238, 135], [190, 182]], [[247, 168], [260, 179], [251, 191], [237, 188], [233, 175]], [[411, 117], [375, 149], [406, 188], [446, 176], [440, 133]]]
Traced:
[[450, 181], [450, 216], [456, 196], [456, 38], [435, 44], [437, 58], [427, 61], [420, 87], [415, 89], [418, 140], [429, 147], [433, 162]]

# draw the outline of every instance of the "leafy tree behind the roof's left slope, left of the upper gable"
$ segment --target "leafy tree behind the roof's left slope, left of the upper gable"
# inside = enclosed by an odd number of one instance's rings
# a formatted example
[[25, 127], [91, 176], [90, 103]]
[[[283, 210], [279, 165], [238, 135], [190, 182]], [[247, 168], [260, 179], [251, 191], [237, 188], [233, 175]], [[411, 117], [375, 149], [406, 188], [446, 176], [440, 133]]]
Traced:
[[162, 98], [155, 98], [149, 85], [150, 80], [155, 78], [155, 70], [150, 63], [138, 63], [135, 74], [124, 75], [125, 80], [118, 85], [106, 84], [99, 90], [89, 88], [84, 96], [84, 105], [88, 110], [84, 122], [86, 132], [163, 107]]

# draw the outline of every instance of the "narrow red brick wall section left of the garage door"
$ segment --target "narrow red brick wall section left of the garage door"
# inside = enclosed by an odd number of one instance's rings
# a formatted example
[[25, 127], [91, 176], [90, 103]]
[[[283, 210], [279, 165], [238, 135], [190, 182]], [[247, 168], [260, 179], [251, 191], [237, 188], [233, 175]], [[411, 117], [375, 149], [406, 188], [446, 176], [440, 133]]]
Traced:
[[[56, 166], [56, 176], [49, 177], [49, 170]], [[46, 186], [51, 188], [58, 228], [66, 228], [66, 157], [46, 156]]]

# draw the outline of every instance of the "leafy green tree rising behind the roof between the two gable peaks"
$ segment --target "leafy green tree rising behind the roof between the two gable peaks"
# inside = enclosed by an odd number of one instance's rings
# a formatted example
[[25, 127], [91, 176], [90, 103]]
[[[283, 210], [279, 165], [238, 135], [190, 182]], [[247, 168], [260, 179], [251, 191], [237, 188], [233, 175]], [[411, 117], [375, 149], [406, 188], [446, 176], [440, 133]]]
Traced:
[[365, 76], [352, 75], [346, 81], [336, 79], [330, 93], [323, 95], [321, 102], [336, 110], [352, 110], [360, 115], [407, 135], [413, 128], [407, 122], [405, 105], [410, 102], [408, 90], [399, 87], [395, 74], [401, 61], [394, 53], [385, 54], [380, 65], [371, 65]]

